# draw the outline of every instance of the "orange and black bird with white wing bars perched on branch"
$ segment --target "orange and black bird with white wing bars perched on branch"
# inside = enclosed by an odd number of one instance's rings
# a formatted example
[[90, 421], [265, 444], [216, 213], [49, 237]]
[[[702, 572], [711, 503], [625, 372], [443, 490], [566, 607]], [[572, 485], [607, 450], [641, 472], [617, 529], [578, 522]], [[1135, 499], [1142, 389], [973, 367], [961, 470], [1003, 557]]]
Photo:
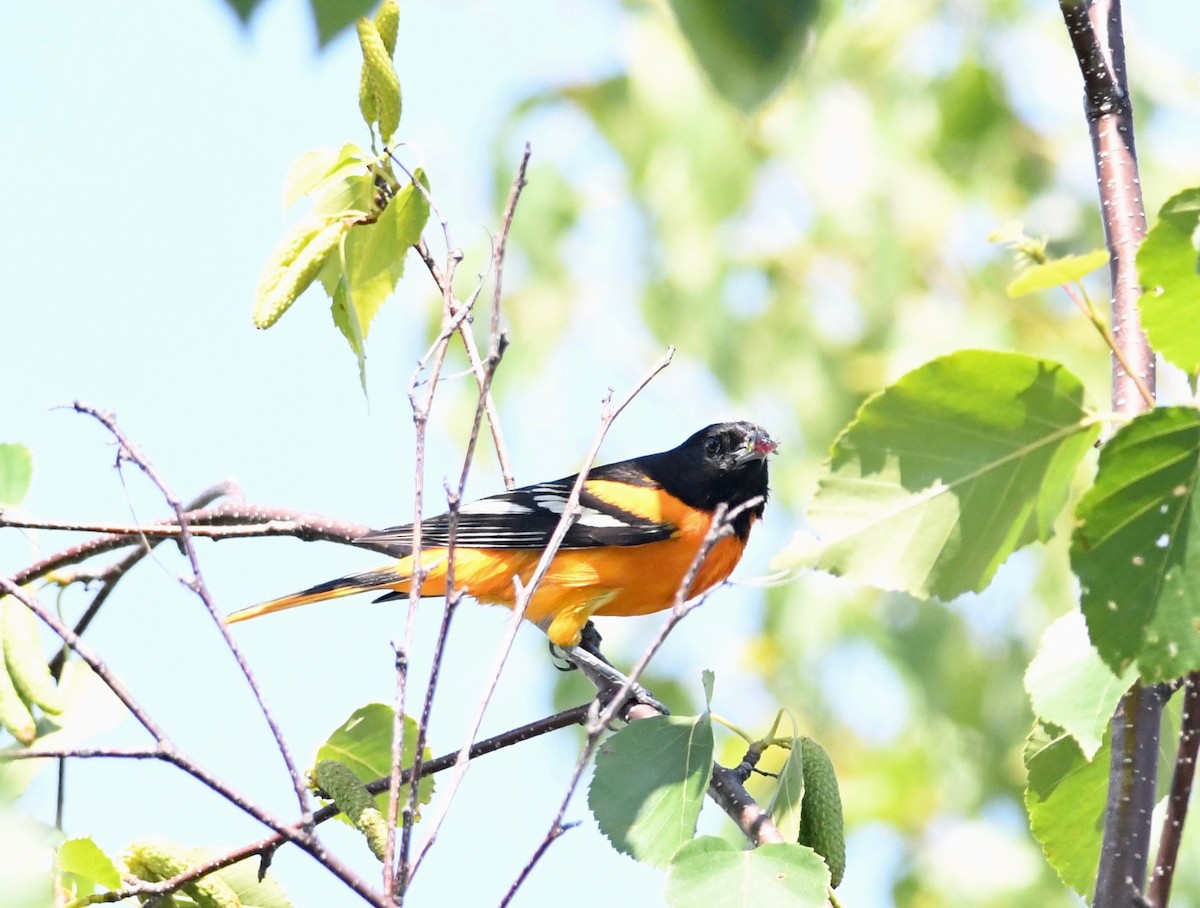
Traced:
[[[733, 571], [767, 501], [767, 455], [775, 441], [750, 422], [701, 429], [678, 447], [588, 471], [582, 512], [571, 524], [526, 618], [558, 647], [572, 648], [592, 615], [642, 615], [670, 608], [721, 504], [737, 512], [732, 533], [700, 566], [688, 596], [697, 596]], [[458, 509], [454, 582], [479, 602], [512, 607], [514, 577], [529, 581], [553, 535], [578, 474], [484, 498]], [[371, 533], [374, 542], [412, 549], [413, 527]], [[421, 522], [422, 596], [444, 596], [449, 515]], [[379, 600], [409, 595], [413, 559], [319, 583], [226, 618], [244, 621], [269, 612], [388, 590]]]

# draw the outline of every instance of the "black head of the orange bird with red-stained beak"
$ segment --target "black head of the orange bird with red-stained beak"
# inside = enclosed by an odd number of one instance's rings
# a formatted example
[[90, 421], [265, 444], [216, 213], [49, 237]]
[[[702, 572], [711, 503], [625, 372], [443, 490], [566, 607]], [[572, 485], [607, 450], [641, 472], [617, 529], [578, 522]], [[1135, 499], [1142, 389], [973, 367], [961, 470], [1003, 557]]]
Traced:
[[733, 523], [745, 539], [767, 503], [767, 456], [775, 447], [770, 435], [752, 422], [719, 422], [671, 451], [646, 458], [646, 467], [662, 488], [703, 511], [761, 498]]

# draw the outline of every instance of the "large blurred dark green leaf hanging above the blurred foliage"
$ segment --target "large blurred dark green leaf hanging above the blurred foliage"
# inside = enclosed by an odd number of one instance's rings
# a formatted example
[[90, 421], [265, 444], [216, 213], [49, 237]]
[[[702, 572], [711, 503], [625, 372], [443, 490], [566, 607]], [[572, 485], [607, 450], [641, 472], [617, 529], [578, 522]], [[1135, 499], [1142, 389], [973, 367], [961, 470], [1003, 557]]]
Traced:
[[671, 0], [679, 30], [713, 88], [752, 113], [799, 61], [817, 0]]

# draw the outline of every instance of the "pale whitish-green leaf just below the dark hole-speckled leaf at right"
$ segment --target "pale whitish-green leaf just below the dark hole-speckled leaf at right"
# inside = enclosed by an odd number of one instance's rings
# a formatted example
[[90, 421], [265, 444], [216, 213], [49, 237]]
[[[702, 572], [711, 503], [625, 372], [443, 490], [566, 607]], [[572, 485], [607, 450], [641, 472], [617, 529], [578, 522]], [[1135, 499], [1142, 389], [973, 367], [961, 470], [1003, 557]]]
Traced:
[[1038, 718], [1063, 728], [1092, 759], [1100, 748], [1121, 694], [1136, 679], [1132, 668], [1120, 678], [1087, 639], [1081, 612], [1069, 612], [1042, 635], [1025, 672], [1025, 690]]

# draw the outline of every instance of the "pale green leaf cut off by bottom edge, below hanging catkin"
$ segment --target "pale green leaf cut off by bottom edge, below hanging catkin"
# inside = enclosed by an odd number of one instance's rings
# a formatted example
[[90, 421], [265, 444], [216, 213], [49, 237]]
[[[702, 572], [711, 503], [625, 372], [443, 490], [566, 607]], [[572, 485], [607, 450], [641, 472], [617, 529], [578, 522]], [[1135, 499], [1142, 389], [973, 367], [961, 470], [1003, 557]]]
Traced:
[[800, 844], [742, 849], [715, 836], [689, 842], [667, 871], [671, 908], [823, 908], [829, 888], [824, 861]]

